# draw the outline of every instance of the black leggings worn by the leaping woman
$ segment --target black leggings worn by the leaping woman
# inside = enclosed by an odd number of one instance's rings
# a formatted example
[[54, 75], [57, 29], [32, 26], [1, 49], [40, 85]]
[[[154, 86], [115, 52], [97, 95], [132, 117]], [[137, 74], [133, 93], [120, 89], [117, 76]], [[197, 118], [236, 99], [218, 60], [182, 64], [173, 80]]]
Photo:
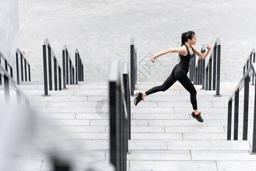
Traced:
[[197, 91], [194, 88], [193, 84], [191, 83], [190, 79], [186, 75], [187, 73], [181, 69], [179, 64], [177, 64], [173, 70], [172, 74], [165, 80], [165, 82], [161, 86], [156, 86], [148, 91], [146, 91], [146, 95], [150, 95], [155, 92], [165, 91], [166, 89], [170, 88], [177, 80], [182, 84], [182, 86], [190, 93], [190, 101], [192, 103], [193, 109], [197, 109]]

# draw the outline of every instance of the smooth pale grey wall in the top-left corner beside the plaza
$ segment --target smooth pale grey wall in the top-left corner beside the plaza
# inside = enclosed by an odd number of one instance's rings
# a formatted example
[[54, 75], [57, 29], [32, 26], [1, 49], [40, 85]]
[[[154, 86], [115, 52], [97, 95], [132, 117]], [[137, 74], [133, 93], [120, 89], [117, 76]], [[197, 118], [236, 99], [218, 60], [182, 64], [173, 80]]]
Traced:
[[18, 0], [0, 0], [0, 51], [13, 67], [15, 52], [19, 47]]

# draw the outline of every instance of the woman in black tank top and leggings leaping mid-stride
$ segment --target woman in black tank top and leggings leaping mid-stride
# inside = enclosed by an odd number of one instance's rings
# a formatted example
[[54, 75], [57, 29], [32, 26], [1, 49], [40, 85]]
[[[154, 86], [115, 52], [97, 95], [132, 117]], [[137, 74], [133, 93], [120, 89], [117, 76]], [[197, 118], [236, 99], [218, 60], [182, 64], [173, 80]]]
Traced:
[[173, 68], [172, 73], [170, 76], [165, 80], [165, 82], [161, 86], [156, 86], [148, 91], [141, 93], [137, 92], [136, 97], [134, 99], [134, 104], [137, 105], [141, 100], [144, 100], [145, 96], [148, 96], [152, 93], [165, 91], [166, 89], [170, 88], [177, 80], [182, 84], [182, 86], [190, 93], [190, 101], [192, 103], [194, 111], [192, 112], [192, 117], [196, 118], [197, 121], [203, 122], [204, 120], [201, 117], [201, 112], [198, 112], [197, 109], [197, 99], [196, 94], [197, 91], [194, 88], [193, 84], [191, 83], [190, 79], [188, 78], [187, 74], [189, 71], [189, 64], [190, 60], [193, 58], [194, 54], [199, 56], [202, 59], [205, 59], [210, 52], [210, 45], [207, 45], [207, 50], [202, 54], [197, 48], [194, 46], [197, 43], [196, 33], [194, 31], [184, 32], [181, 35], [181, 47], [176, 48], [167, 48], [159, 52], [151, 58], [151, 62], [155, 62], [155, 59], [161, 55], [167, 54], [169, 52], [178, 52], [180, 63], [176, 64]]

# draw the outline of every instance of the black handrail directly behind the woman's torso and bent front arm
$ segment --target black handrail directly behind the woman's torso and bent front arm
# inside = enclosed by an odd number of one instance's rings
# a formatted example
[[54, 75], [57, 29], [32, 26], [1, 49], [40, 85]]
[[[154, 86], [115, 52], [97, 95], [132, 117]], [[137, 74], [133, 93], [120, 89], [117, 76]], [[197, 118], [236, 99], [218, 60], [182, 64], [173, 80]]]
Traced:
[[[205, 44], [202, 45], [201, 53], [205, 52]], [[195, 85], [202, 85], [205, 89], [205, 59], [199, 58], [196, 66], [196, 55], [190, 62], [189, 78]]]

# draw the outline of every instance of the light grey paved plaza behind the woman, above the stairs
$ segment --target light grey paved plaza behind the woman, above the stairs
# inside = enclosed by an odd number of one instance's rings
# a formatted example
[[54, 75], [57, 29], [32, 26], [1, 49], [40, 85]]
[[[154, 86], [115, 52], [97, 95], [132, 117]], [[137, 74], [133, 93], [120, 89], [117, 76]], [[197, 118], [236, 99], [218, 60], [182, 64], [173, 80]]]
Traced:
[[[181, 44], [182, 32], [197, 34], [202, 44], [221, 40], [221, 82], [239, 82], [256, 40], [254, 0], [249, 1], [50, 1], [19, 0], [21, 50], [31, 64], [31, 78], [42, 81], [44, 38], [62, 63], [67, 44], [74, 60], [78, 48], [88, 81], [107, 81], [110, 61], [130, 62], [130, 39], [137, 47], [138, 79], [164, 82], [178, 54], [150, 62], [151, 55]], [[206, 59], [209, 59], [209, 57]]]

